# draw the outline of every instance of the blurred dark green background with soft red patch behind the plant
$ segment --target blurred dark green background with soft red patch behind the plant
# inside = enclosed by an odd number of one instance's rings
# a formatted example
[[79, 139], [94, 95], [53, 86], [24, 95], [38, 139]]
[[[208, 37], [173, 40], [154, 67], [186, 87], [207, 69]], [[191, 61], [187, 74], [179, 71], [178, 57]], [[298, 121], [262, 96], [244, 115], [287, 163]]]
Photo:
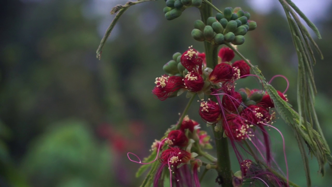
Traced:
[[[97, 47], [114, 15], [109, 12], [126, 0], [3, 0], [0, 3], [0, 186], [1, 187], [137, 187], [138, 164], [126, 153], [149, 154], [154, 139], [176, 123], [187, 99], [166, 101], [151, 94], [154, 79], [176, 52], [194, 45], [197, 9], [180, 18], [164, 18], [162, 0], [142, 3], [125, 12], [103, 52]], [[324, 60], [314, 67], [318, 89], [316, 109], [332, 148], [331, 0], [296, 4], [322, 34]], [[287, 21], [277, 0], [223, 0], [220, 9], [240, 6], [251, 13], [258, 28], [239, 46], [269, 80], [277, 74], [290, 81], [289, 102], [296, 109], [297, 58]], [[285, 90], [286, 82], [272, 83]], [[238, 81], [237, 88], [260, 88], [254, 78]], [[211, 132], [194, 103], [189, 116]], [[304, 169], [291, 128], [275, 123], [286, 139], [290, 180], [305, 186]], [[285, 171], [281, 136], [273, 129], [273, 154]], [[211, 154], [215, 151], [208, 150]], [[233, 152], [232, 152], [233, 154]], [[239, 170], [233, 160], [234, 171]], [[313, 186], [332, 186], [332, 170], [317, 173], [310, 160]], [[217, 186], [208, 171], [202, 186]]]

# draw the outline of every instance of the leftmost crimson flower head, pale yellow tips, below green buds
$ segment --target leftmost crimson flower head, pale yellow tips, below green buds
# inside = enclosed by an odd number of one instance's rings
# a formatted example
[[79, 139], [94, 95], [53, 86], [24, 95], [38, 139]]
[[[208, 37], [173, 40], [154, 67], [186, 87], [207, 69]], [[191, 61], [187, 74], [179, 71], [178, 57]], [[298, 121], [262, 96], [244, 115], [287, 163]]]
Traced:
[[155, 94], [158, 99], [165, 100], [170, 94], [184, 87], [183, 77], [162, 75], [156, 78], [154, 82], [156, 86], [152, 90], [152, 94]]

